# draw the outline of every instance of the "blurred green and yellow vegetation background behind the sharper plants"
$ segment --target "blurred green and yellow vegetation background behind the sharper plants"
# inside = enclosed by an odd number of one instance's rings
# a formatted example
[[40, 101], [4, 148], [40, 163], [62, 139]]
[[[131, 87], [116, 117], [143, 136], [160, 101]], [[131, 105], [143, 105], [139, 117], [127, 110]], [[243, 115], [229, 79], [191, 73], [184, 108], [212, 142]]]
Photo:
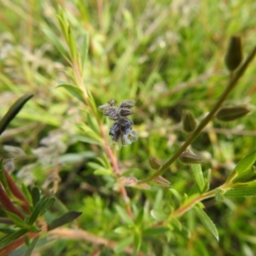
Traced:
[[[90, 134], [88, 126], [97, 130], [94, 119], [76, 98], [56, 88], [74, 83], [72, 68], [45, 34], [52, 32], [65, 45], [56, 18], [58, 6], [67, 15], [78, 51], [88, 33], [84, 84], [96, 104], [110, 98], [137, 101], [132, 119], [138, 141], [122, 148], [118, 159], [125, 176], [144, 178], [153, 173], [148, 166], [150, 156], [166, 161], [186, 139], [180, 123], [182, 111], [189, 109], [201, 119], [224, 90], [229, 75], [223, 59], [230, 36], [241, 36], [244, 55], [253, 48], [256, 3], [1, 1], [0, 115], [19, 96], [35, 95], [2, 136], [4, 145], [22, 148], [25, 153], [15, 159], [17, 183], [36, 184], [45, 194], [54, 192], [59, 199], [55, 212], [82, 211], [73, 225], [121, 242], [129, 235], [117, 234], [114, 229], [123, 224], [116, 206], [125, 209], [124, 202], [111, 175], [95, 175], [99, 165], [109, 165], [109, 160], [96, 138], [85, 136]], [[255, 63], [227, 103], [255, 104]], [[214, 120], [193, 143], [195, 153], [205, 158], [203, 170], [211, 172], [212, 189], [224, 183], [242, 156], [255, 149], [254, 117], [252, 113], [227, 124]], [[111, 122], [102, 117], [102, 123], [108, 133]], [[180, 195], [189, 194], [193, 179], [187, 166], [177, 161], [164, 177]], [[152, 208], [170, 212], [177, 207], [171, 191], [158, 186], [127, 188], [127, 194], [135, 213], [142, 208], [145, 212]], [[219, 242], [191, 210], [180, 218], [182, 228], [169, 224], [167, 232], [143, 236], [141, 252], [255, 255], [255, 199], [208, 200], [204, 204], [218, 228]], [[148, 214], [143, 225], [147, 228], [155, 222]], [[37, 255], [126, 255], [79, 239], [49, 241], [44, 237], [37, 249]]]

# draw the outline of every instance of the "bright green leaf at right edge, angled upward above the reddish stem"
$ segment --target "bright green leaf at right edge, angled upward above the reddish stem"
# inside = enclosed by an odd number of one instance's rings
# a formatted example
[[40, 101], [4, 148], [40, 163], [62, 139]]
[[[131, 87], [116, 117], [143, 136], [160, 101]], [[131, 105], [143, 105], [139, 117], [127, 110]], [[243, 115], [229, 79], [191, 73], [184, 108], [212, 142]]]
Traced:
[[227, 179], [227, 183], [230, 182], [230, 180], [234, 179], [234, 174], [237, 173], [237, 176], [239, 177], [242, 173], [246, 172], [251, 166], [253, 166], [253, 163], [256, 160], [256, 150], [251, 152], [250, 154], [247, 154], [243, 159], [240, 160], [240, 162], [237, 164], [236, 168], [233, 170], [233, 172], [230, 173], [230, 176]]

